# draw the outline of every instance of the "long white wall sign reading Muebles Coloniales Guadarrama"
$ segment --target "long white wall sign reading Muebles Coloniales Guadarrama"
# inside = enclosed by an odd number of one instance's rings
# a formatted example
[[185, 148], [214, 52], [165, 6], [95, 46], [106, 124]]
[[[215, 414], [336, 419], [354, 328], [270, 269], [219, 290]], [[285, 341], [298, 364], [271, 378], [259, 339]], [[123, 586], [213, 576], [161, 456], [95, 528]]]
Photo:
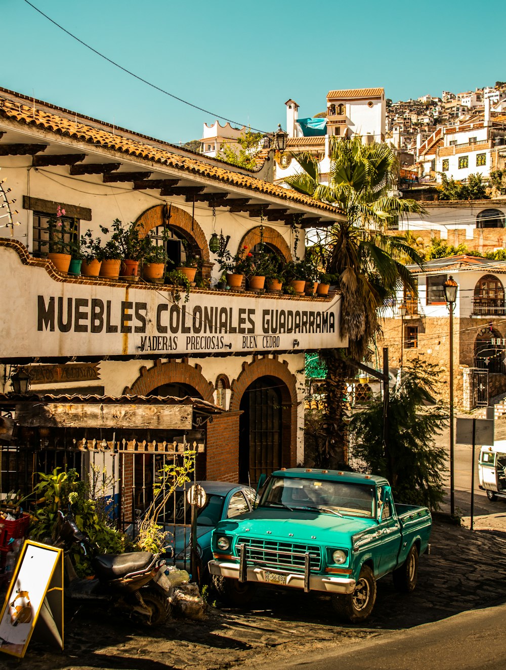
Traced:
[[55, 281], [0, 247], [1, 357], [227, 354], [347, 346], [340, 297], [313, 300]]

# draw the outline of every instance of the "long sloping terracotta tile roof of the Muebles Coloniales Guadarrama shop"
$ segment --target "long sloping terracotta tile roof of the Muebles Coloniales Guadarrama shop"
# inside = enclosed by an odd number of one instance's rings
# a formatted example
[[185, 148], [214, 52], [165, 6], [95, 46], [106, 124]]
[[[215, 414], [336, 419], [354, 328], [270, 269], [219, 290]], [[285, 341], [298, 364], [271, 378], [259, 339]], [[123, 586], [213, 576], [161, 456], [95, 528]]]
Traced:
[[[56, 111], [55, 111], [56, 112]], [[147, 144], [140, 139], [132, 139], [130, 137], [123, 137], [105, 129], [97, 129], [83, 123], [83, 121], [76, 116], [75, 119], [66, 119], [54, 112], [46, 112], [40, 109], [34, 109], [21, 103], [15, 103], [12, 100], [0, 96], [0, 117], [16, 121], [22, 125], [34, 125], [37, 128], [52, 131], [58, 135], [65, 135], [72, 137], [79, 141], [87, 142], [107, 149], [113, 149], [118, 153], [123, 153], [129, 156], [135, 156], [140, 159], [153, 161], [171, 167], [173, 170], [178, 170], [185, 175], [195, 175], [206, 177], [209, 179], [222, 182], [223, 184], [230, 184], [232, 186], [239, 186], [256, 191], [269, 196], [283, 198], [283, 200], [290, 200], [294, 203], [310, 206], [318, 210], [327, 212], [328, 214], [342, 214], [340, 210], [323, 202], [317, 202], [309, 196], [304, 196], [296, 191], [271, 182], [264, 182], [261, 179], [255, 178], [247, 174], [240, 174], [232, 172], [225, 167], [218, 167], [218, 165], [210, 165], [199, 161], [190, 153], [186, 155], [178, 155], [163, 149]]]

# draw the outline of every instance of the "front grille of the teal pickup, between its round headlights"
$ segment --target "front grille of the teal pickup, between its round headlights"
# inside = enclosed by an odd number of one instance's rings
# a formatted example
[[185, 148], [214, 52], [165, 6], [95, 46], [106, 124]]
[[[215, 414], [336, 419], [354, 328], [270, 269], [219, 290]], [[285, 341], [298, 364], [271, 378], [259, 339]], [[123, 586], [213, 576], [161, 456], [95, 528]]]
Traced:
[[246, 560], [249, 565], [278, 567], [304, 572], [306, 551], [309, 551], [312, 572], [318, 572], [322, 567], [321, 549], [314, 545], [262, 540], [256, 537], [239, 537], [236, 545], [237, 555], [239, 555], [241, 544], [246, 545]]

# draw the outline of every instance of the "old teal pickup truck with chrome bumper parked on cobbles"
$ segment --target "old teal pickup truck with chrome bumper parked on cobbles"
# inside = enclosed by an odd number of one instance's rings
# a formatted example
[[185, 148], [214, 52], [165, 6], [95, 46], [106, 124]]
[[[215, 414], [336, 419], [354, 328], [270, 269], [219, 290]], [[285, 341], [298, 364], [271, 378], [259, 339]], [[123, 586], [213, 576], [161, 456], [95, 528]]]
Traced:
[[209, 570], [229, 604], [247, 604], [256, 584], [321, 591], [340, 618], [360, 622], [380, 577], [392, 573], [399, 590], [415, 588], [431, 526], [426, 507], [394, 505], [383, 477], [281, 469], [253, 512], [216, 525]]

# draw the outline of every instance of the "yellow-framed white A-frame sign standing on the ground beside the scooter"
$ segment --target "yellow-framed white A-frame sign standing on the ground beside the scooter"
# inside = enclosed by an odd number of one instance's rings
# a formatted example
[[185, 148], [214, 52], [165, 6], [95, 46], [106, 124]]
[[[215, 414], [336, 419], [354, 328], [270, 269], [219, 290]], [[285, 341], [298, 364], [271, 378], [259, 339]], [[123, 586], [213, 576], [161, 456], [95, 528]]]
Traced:
[[63, 551], [27, 540], [0, 614], [0, 651], [23, 658], [34, 632], [63, 649]]

